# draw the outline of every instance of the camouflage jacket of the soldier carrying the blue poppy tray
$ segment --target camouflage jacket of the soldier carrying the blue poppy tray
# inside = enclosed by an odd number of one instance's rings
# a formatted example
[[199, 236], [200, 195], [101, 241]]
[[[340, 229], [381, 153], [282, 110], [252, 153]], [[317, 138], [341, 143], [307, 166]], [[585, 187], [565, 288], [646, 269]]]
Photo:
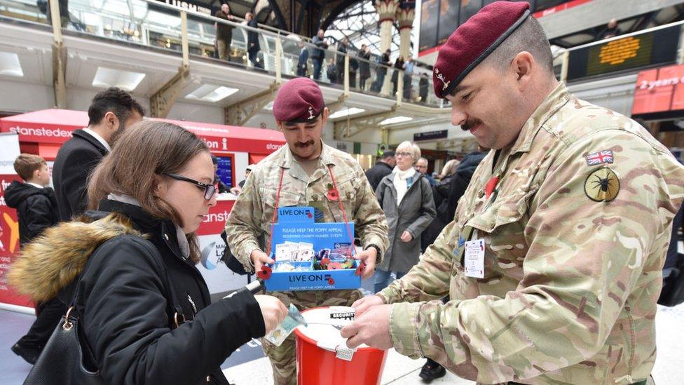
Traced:
[[323, 144], [319, 168], [309, 177], [285, 145], [252, 170], [226, 222], [228, 246], [247, 271], [254, 270], [249, 260], [252, 251], [257, 248], [266, 251], [281, 170], [284, 174], [278, 207], [313, 206], [322, 211], [322, 222], [343, 222], [338, 201], [328, 198], [332, 187], [329, 167], [347, 219], [355, 222], [362, 245], [364, 248], [376, 245], [384, 252], [388, 244], [385, 213], [359, 163]]

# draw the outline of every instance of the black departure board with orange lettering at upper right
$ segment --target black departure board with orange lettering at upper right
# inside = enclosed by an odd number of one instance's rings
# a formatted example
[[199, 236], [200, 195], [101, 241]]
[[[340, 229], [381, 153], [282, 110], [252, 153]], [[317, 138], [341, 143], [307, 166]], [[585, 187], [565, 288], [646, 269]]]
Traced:
[[568, 81], [674, 62], [680, 26], [570, 50]]

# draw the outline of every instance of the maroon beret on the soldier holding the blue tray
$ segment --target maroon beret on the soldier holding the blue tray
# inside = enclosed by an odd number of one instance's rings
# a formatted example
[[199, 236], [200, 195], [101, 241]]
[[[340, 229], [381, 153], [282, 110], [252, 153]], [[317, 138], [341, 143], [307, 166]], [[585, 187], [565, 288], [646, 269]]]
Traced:
[[323, 94], [318, 84], [309, 78], [295, 78], [278, 90], [273, 116], [277, 121], [307, 123], [315, 121], [323, 107]]

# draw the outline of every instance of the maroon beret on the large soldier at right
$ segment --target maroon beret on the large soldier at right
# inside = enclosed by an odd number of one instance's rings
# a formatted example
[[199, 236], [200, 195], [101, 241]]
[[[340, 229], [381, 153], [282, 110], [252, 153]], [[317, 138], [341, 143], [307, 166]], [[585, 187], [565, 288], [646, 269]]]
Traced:
[[456, 28], [439, 49], [432, 70], [435, 95], [449, 95], [529, 15], [530, 4], [526, 1], [496, 1]]

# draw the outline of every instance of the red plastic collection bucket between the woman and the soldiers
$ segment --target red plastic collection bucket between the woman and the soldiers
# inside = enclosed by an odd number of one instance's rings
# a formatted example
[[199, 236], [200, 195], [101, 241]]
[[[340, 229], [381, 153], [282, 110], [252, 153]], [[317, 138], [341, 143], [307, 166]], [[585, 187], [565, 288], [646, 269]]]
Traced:
[[[307, 319], [307, 312], [328, 309], [314, 308], [302, 311]], [[310, 326], [313, 327], [314, 325]], [[325, 325], [324, 325], [325, 326]], [[385, 367], [387, 351], [369, 346], [360, 346], [352, 360], [336, 358], [334, 351], [317, 346], [318, 341], [307, 336], [310, 327], [297, 327], [294, 330], [297, 351], [297, 384], [298, 385], [378, 385]], [[331, 326], [330, 326], [331, 327]], [[331, 327], [332, 330], [339, 332]]]

